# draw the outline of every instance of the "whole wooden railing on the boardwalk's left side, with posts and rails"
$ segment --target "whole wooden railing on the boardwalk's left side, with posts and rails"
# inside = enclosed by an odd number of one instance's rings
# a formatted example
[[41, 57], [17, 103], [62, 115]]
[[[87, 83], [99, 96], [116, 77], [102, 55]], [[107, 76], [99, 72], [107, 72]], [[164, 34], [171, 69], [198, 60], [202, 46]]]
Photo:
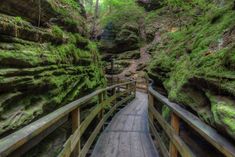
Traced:
[[[120, 89], [121, 87], [122, 89]], [[110, 97], [107, 97], [108, 91], [112, 93]], [[81, 121], [80, 108], [86, 106], [87, 102], [97, 96], [99, 103], [93, 108], [90, 114]], [[134, 97], [135, 81], [120, 83], [97, 90], [1, 139], [0, 157], [23, 156], [66, 121], [71, 122], [72, 134], [67, 139], [58, 157], [85, 157], [107, 119], [120, 105], [130, 101]], [[113, 104], [107, 112], [105, 112], [106, 104]], [[98, 125], [81, 147], [81, 137], [96, 117], [99, 117]]]

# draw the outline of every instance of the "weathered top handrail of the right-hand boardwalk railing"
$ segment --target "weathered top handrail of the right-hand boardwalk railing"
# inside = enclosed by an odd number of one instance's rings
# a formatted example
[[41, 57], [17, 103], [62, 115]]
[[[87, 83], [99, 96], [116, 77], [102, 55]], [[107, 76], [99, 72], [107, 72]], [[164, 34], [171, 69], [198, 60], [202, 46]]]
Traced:
[[159, 101], [167, 105], [177, 116], [198, 132], [205, 140], [217, 148], [226, 157], [235, 156], [235, 146], [221, 136], [215, 129], [202, 122], [198, 117], [180, 107], [176, 103], [170, 102], [166, 97], [156, 92], [152, 87], [149, 87], [149, 92], [154, 95]]

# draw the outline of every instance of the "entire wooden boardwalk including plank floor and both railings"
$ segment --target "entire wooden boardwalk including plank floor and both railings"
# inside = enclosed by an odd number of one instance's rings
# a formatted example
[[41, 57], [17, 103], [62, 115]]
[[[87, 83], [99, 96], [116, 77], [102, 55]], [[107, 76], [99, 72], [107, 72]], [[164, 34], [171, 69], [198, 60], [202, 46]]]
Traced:
[[[132, 80], [98, 89], [0, 139], [0, 157], [25, 156], [25, 153], [40, 145], [43, 139], [68, 122], [72, 133], [68, 135], [57, 157], [86, 157], [90, 153], [92, 157], [159, 157], [154, 144], [163, 157], [235, 157], [235, 145], [230, 140], [181, 105], [170, 102], [151, 85], [148, 86], [148, 99], [146, 94], [136, 93], [136, 83]], [[106, 96], [108, 92], [112, 94], [109, 97]], [[94, 97], [98, 97], [98, 104], [85, 119], [81, 119], [81, 109]], [[130, 101], [101, 133], [104, 124], [119, 106]], [[162, 117], [162, 111], [158, 109], [159, 102], [171, 110], [170, 123]], [[106, 104], [112, 104], [112, 107], [103, 112], [107, 109]], [[98, 124], [81, 144], [81, 138], [86, 131], [91, 131], [89, 126], [94, 121]], [[182, 134], [185, 131], [190, 134]], [[149, 132], [155, 139], [154, 144]], [[91, 149], [100, 133], [95, 148]], [[169, 142], [162, 140], [163, 133]], [[206, 145], [202, 144], [205, 141]]]

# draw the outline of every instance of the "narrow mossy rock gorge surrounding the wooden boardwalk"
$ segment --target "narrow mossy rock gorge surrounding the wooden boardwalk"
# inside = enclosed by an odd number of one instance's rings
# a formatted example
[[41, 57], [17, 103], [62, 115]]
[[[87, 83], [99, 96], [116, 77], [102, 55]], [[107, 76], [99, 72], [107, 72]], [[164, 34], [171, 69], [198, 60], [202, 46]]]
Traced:
[[[1, 0], [0, 139], [114, 79], [151, 80], [235, 145], [235, 1]], [[57, 156], [71, 132], [66, 122], [24, 157]]]

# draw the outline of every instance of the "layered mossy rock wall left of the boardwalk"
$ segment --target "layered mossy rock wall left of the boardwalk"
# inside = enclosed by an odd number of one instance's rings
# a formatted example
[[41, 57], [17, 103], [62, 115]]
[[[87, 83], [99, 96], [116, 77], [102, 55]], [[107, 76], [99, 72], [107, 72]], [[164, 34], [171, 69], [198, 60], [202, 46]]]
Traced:
[[83, 7], [74, 0], [0, 3], [0, 137], [105, 85]]

